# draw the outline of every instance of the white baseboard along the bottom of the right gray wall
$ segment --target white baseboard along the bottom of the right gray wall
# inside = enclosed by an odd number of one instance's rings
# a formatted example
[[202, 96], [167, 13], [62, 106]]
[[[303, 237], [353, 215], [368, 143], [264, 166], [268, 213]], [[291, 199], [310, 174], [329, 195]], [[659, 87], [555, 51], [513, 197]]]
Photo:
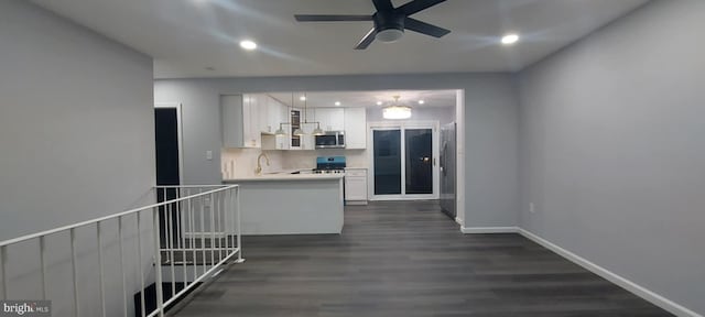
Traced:
[[[471, 228], [469, 228], [471, 229]], [[557, 253], [558, 255], [572, 261], [573, 263], [583, 266], [584, 269], [586, 269], [587, 271], [590, 271], [599, 276], [601, 276], [603, 278], [615, 283], [619, 286], [621, 286], [622, 288], [633, 293], [634, 295], [651, 302], [653, 305], [657, 305], [665, 310], [668, 310], [671, 314], [674, 314], [676, 316], [682, 316], [682, 317], [703, 317], [702, 315], [687, 309], [681, 305], [679, 305], [677, 303], [674, 303], [673, 300], [670, 300], [654, 292], [651, 292], [649, 289], [647, 289], [646, 287], [633, 283], [622, 276], [619, 276], [615, 273], [612, 273], [611, 271], [608, 271], [607, 269], [599, 266], [590, 261], [587, 261], [581, 256], [578, 256], [577, 254], [565, 250], [532, 232], [529, 232], [524, 229], [521, 228], [517, 228], [518, 231], [514, 232], [519, 232], [521, 236], [525, 237], [529, 240], [532, 240], [539, 244], [541, 244], [542, 247]], [[465, 231], [463, 231], [465, 232]], [[484, 233], [484, 232], [469, 232], [469, 233]]]

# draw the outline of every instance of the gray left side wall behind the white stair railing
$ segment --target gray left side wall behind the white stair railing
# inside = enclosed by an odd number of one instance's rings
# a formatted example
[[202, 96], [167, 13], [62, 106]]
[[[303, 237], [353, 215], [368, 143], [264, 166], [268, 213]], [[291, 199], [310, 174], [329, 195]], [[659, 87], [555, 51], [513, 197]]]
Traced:
[[[0, 240], [122, 211], [149, 192], [152, 85], [150, 57], [29, 1], [0, 1]], [[117, 278], [117, 223], [107, 226], [107, 270]], [[78, 230], [85, 316], [98, 316], [95, 230]], [[134, 230], [126, 236], [135, 254]], [[55, 252], [68, 250], [68, 237], [48, 243], [54, 316], [72, 316], [68, 258]], [[37, 251], [36, 242], [9, 248], [11, 298], [41, 298], [39, 259], [30, 258]], [[133, 284], [137, 265], [126, 270]]]

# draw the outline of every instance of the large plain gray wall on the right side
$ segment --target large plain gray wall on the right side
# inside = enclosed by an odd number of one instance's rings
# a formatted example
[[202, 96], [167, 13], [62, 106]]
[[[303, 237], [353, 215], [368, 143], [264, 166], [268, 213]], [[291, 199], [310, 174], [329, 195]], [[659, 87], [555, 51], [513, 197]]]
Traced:
[[699, 314], [703, 30], [654, 1], [519, 76], [521, 227]]

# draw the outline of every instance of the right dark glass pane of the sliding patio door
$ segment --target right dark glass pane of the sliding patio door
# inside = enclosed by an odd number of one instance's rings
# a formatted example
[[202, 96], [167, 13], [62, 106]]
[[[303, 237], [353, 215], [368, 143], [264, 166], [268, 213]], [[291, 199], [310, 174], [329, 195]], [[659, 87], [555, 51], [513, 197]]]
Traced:
[[433, 152], [431, 129], [406, 129], [406, 194], [433, 194]]

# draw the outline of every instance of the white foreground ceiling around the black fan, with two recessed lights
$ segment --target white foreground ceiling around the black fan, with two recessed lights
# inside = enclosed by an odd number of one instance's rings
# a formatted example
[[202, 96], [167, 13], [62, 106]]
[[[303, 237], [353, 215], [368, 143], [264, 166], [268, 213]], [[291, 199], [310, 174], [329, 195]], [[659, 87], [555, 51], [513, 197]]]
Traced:
[[[366, 51], [352, 47], [371, 22], [297, 23], [293, 14], [371, 14], [370, 0], [33, 1], [153, 56], [156, 78], [176, 78], [516, 72], [648, 0], [448, 0], [413, 17], [451, 34], [406, 32]], [[499, 45], [506, 32], [521, 42]], [[260, 48], [243, 52], [241, 39]]]

